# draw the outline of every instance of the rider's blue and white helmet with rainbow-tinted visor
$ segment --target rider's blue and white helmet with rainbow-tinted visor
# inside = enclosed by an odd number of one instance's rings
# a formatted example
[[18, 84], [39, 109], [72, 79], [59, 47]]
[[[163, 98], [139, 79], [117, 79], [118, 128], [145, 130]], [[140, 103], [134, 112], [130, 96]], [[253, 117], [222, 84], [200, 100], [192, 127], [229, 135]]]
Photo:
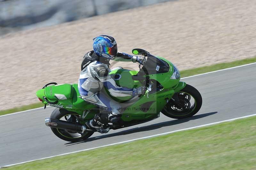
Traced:
[[100, 35], [93, 38], [93, 51], [101, 57], [113, 60], [117, 55], [115, 38], [109, 35]]

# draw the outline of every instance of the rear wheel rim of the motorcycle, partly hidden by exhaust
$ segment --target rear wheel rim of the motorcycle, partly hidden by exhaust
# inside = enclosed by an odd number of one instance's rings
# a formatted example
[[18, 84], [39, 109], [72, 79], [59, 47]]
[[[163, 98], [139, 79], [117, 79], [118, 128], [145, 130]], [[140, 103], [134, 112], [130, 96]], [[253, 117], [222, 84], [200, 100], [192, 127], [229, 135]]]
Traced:
[[[79, 114], [66, 114], [62, 116], [59, 120], [64, 120], [64, 121], [69, 121], [69, 122], [76, 122], [76, 118], [81, 118]], [[88, 135], [89, 132], [85, 133], [80, 133], [77, 131], [72, 131], [72, 130], [65, 130], [65, 129], [59, 129], [56, 128], [58, 133], [64, 137], [70, 138], [70, 139], [77, 139], [77, 138], [82, 138], [85, 135]]]

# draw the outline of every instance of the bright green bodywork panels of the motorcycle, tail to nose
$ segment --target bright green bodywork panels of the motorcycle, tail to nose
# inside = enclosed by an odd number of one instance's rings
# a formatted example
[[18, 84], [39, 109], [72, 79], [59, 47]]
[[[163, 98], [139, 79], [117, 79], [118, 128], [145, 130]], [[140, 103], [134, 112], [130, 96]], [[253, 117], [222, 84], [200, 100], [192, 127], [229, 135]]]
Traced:
[[[131, 121], [131, 120], [150, 120], [158, 117], [158, 114], [162, 111], [164, 106], [166, 105], [167, 99], [170, 100], [174, 93], [179, 92], [186, 86], [185, 82], [180, 82], [180, 79], [174, 80], [170, 79], [173, 74], [173, 65], [168, 60], [157, 57], [165, 62], [167, 62], [170, 66], [169, 72], [167, 73], [157, 73], [157, 74], [149, 74], [150, 81], [154, 80], [158, 81], [163, 89], [156, 92], [149, 92], [147, 90], [144, 96], [141, 96], [138, 101], [130, 105], [128, 108], [124, 109], [122, 114], [123, 121]], [[110, 75], [120, 74], [121, 79], [116, 80], [116, 84], [121, 87], [127, 88], [137, 88], [142, 85], [140, 81], [132, 80], [132, 75], [136, 75], [137, 71], [130, 71], [126, 69], [119, 69], [110, 72]], [[62, 94], [67, 99], [59, 100], [56, 94]], [[108, 93], [109, 94], [109, 93]], [[110, 95], [110, 94], [109, 94]], [[79, 94], [77, 84], [63, 84], [63, 85], [52, 85], [48, 86], [45, 89], [40, 89], [36, 92], [36, 96], [39, 97], [44, 104], [48, 104], [54, 107], [59, 107], [62, 109], [66, 109], [68, 111], [76, 112], [79, 115], [83, 115], [90, 109], [96, 108], [96, 105], [85, 102]], [[43, 97], [46, 97], [50, 102], [58, 101], [56, 104], [47, 103]], [[115, 99], [119, 102], [124, 102], [129, 100], [131, 97], [113, 97], [110, 95], [112, 99]], [[145, 110], [140, 109], [145, 108]], [[94, 115], [98, 111], [90, 110], [90, 112], [84, 118], [84, 121], [90, 120], [94, 117]], [[84, 122], [80, 122], [84, 123]]]

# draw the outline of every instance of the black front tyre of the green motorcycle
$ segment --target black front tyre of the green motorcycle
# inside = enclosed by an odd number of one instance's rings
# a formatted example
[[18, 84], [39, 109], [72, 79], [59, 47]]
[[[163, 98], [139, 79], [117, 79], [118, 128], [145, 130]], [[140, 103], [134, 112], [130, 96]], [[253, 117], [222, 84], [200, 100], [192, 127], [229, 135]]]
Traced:
[[[187, 99], [184, 97], [182, 98], [182, 94], [183, 94], [183, 96], [185, 94], [185, 96], [189, 96], [189, 97], [187, 97]], [[172, 103], [172, 99], [171, 99], [168, 102], [168, 104], [166, 104], [164, 106], [163, 110], [161, 111], [165, 116], [168, 116], [173, 119], [183, 119], [183, 118], [188, 118], [188, 117], [195, 115], [200, 110], [200, 108], [202, 106], [202, 96], [196, 88], [187, 84], [184, 89], [180, 90], [179, 95], [180, 95], [179, 99], [181, 102], [183, 102], [184, 107], [186, 107], [188, 105], [190, 107], [190, 98], [191, 97], [194, 98], [195, 103], [190, 108], [179, 110], [179, 109], [173, 109], [173, 108], [175, 108], [175, 104]], [[188, 98], [189, 98], [189, 100], [188, 100]], [[182, 99], [183, 99], [183, 101], [182, 101]]]

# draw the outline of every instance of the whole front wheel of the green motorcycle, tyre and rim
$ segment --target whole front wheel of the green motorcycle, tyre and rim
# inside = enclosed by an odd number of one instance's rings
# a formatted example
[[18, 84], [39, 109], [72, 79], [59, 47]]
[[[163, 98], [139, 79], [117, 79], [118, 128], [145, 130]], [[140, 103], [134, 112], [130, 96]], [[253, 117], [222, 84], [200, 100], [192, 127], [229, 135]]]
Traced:
[[162, 113], [173, 119], [183, 119], [195, 115], [202, 106], [202, 96], [193, 86], [186, 87], [175, 93], [164, 106]]

